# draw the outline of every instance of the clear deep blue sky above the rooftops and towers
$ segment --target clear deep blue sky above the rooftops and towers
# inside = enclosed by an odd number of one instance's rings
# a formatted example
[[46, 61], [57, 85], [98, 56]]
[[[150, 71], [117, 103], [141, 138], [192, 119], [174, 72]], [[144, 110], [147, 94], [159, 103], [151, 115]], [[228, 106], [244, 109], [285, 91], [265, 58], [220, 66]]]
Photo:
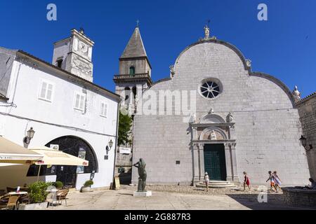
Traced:
[[[48, 3], [57, 20], [48, 21]], [[259, 3], [268, 21], [259, 21]], [[251, 59], [252, 71], [298, 85], [303, 97], [316, 91], [315, 0], [0, 0], [0, 46], [51, 62], [53, 43], [83, 27], [94, 42], [93, 82], [114, 91], [119, 56], [140, 20], [140, 33], [152, 65], [152, 80], [169, 77], [169, 65], [188, 45], [211, 36], [235, 45]]]

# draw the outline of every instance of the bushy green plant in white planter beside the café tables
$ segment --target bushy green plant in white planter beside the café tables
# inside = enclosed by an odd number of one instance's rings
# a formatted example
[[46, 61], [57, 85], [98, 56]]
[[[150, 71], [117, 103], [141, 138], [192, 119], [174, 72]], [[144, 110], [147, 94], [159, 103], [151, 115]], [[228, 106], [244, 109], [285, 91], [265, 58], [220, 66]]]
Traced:
[[47, 207], [47, 188], [52, 183], [38, 181], [29, 185], [28, 196], [30, 204], [20, 204], [20, 210], [44, 210]]

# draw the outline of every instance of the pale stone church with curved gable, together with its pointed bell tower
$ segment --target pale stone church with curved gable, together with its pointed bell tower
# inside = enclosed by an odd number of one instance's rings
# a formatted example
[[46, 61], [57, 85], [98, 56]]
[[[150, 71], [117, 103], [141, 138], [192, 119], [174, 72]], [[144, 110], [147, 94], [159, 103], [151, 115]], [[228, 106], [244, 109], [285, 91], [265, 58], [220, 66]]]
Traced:
[[[204, 172], [213, 181], [242, 183], [247, 172], [253, 184], [265, 184], [270, 170], [284, 185], [307, 183], [295, 91], [274, 76], [252, 71], [251, 60], [234, 45], [210, 36], [206, 26], [204, 38], [180, 52], [169, 77], [154, 83], [151, 70], [136, 27], [114, 82], [133, 115], [133, 163], [145, 160], [147, 183], [196, 184]], [[172, 95], [161, 97], [159, 92], [166, 91]], [[190, 119], [183, 119], [187, 111], [178, 106], [176, 92], [183, 91], [196, 92], [190, 97], [195, 102]], [[157, 94], [156, 103], [148, 103], [149, 92]], [[164, 102], [168, 97], [171, 112]], [[153, 110], [159, 106], [166, 107]], [[133, 168], [132, 183], [137, 182]]]

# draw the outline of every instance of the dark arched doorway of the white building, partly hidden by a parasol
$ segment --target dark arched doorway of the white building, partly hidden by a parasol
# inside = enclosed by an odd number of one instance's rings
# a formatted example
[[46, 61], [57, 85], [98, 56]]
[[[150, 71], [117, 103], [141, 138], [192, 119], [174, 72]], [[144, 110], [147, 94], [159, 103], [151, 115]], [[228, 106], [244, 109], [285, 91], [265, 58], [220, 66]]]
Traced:
[[46, 144], [47, 147], [58, 145], [59, 150], [83, 158], [89, 161], [88, 167], [77, 166], [52, 166], [48, 169], [54, 169], [56, 181], [61, 181], [66, 187], [74, 188], [77, 181], [77, 174], [91, 174], [98, 172], [98, 160], [91, 146], [79, 137], [66, 136], [54, 139]]

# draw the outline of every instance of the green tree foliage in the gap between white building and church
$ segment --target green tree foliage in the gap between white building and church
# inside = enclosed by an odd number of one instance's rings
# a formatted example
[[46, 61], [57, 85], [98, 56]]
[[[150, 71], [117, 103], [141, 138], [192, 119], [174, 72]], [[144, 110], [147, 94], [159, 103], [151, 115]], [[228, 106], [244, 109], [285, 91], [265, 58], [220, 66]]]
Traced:
[[129, 134], [131, 133], [131, 125], [133, 120], [129, 114], [124, 115], [119, 112], [119, 146], [124, 146], [126, 144], [131, 144], [131, 139], [129, 139]]

